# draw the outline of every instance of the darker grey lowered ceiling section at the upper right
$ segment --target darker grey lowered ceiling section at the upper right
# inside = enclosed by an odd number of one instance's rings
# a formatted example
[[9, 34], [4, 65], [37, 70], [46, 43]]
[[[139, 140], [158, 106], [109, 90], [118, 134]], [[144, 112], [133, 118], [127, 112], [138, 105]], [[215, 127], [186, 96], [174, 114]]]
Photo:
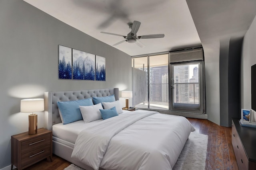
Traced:
[[256, 0], [186, 0], [204, 45], [244, 37], [256, 15]]

